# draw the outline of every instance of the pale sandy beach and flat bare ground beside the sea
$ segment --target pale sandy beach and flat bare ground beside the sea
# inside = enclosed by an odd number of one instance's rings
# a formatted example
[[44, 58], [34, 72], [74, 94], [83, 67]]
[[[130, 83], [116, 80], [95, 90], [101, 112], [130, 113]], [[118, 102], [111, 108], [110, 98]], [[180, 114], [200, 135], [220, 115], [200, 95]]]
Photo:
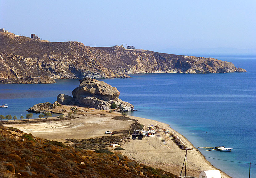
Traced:
[[[120, 116], [120, 113], [96, 110], [91, 108], [82, 108], [77, 106], [60, 106], [54, 111], [58, 112], [65, 109], [69, 112], [70, 107], [76, 107], [79, 112], [76, 114], [78, 118], [64, 121], [48, 121], [29, 124], [4, 124], [7, 127], [15, 127], [23, 132], [31, 133], [34, 136], [65, 142], [66, 138], [85, 139], [105, 136], [105, 131], [118, 131], [129, 129], [134, 121], [118, 121], [112, 119], [115, 116]], [[132, 140], [122, 144], [125, 150], [118, 151], [130, 159], [136, 160], [139, 163], [161, 168], [176, 175], [180, 175], [180, 171], [184, 162], [186, 150], [178, 147], [174, 139], [170, 139], [165, 131], [177, 136], [182, 142], [193, 150], [187, 150], [187, 176], [199, 177], [202, 170], [217, 169], [207, 161], [204, 156], [196, 149], [184, 136], [171, 129], [169, 125], [151, 119], [128, 116], [132, 119], [137, 119], [140, 124], [143, 124], [145, 129], [149, 125], [156, 126], [159, 133], [155, 137], [147, 137], [142, 140]], [[55, 117], [52, 117], [55, 118]], [[51, 118], [48, 118], [51, 120]], [[32, 119], [34, 120], [34, 119]], [[35, 119], [39, 120], [39, 119]], [[16, 122], [16, 121], [14, 121]], [[113, 148], [109, 148], [113, 149]], [[183, 171], [184, 172], [184, 171]], [[183, 175], [183, 173], [182, 173]], [[222, 178], [229, 178], [224, 172], [221, 172]]]

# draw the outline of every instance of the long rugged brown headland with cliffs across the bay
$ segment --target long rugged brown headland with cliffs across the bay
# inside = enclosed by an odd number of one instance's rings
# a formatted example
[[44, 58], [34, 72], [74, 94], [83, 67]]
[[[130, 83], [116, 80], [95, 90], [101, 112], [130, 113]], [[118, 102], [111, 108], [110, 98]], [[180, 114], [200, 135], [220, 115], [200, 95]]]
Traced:
[[214, 58], [181, 56], [121, 46], [94, 48], [79, 42], [47, 42], [0, 33], [0, 78], [129, 77], [133, 73], [246, 72]]

